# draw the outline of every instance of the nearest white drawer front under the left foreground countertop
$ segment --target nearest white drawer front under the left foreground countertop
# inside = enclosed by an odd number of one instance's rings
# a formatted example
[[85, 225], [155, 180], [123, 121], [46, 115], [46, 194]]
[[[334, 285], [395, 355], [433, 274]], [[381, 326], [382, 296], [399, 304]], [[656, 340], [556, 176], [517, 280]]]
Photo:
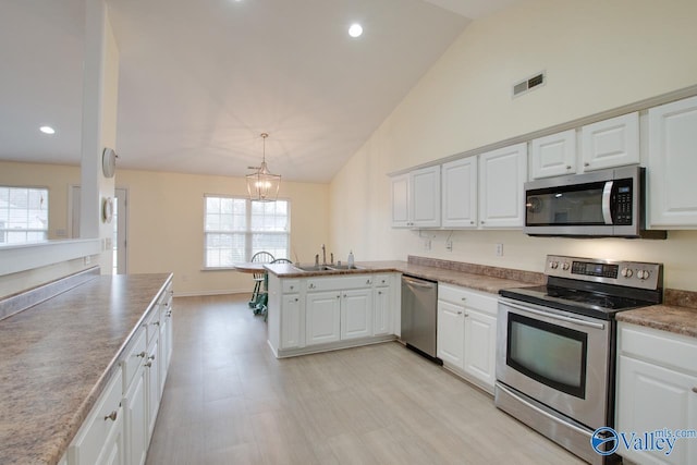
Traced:
[[122, 383], [123, 377], [121, 370], [118, 370], [68, 449], [69, 463], [75, 465], [100, 463], [99, 458], [108, 445], [108, 438], [114, 429], [122, 428]]

